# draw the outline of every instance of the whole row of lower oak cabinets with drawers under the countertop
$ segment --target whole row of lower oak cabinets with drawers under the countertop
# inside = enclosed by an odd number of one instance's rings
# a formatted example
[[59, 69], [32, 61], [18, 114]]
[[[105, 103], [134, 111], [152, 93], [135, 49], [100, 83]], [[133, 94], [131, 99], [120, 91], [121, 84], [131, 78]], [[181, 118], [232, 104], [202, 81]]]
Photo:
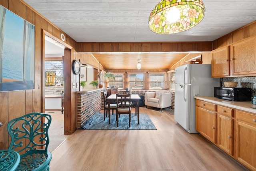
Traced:
[[256, 171], [256, 114], [196, 99], [196, 130]]

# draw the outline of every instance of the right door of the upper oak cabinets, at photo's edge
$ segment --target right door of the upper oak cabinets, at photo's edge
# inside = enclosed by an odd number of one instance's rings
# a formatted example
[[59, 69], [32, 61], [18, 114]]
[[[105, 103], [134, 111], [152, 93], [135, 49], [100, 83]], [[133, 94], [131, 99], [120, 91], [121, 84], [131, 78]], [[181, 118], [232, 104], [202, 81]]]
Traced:
[[230, 46], [230, 75], [256, 75], [256, 37], [247, 38]]

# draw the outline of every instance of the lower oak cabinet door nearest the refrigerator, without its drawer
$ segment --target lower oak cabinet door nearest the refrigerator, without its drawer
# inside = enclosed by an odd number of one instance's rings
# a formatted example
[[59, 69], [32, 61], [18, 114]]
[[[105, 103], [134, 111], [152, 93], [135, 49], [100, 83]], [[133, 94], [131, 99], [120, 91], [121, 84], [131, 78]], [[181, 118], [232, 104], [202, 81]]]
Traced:
[[216, 113], [196, 106], [196, 131], [216, 143]]

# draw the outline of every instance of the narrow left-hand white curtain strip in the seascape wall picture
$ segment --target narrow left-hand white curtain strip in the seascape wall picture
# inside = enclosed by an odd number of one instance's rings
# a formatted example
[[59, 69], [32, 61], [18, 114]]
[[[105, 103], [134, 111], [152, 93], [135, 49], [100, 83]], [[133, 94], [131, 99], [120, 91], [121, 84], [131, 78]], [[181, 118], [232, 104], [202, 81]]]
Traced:
[[5, 8], [0, 8], [0, 83], [3, 82]]

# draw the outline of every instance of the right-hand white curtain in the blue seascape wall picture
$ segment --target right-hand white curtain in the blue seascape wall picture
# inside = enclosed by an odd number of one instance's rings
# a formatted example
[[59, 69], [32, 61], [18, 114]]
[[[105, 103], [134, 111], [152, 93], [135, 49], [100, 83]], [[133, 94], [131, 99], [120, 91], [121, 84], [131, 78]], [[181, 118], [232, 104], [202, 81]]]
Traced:
[[24, 20], [22, 77], [23, 83], [34, 85], [35, 26]]

